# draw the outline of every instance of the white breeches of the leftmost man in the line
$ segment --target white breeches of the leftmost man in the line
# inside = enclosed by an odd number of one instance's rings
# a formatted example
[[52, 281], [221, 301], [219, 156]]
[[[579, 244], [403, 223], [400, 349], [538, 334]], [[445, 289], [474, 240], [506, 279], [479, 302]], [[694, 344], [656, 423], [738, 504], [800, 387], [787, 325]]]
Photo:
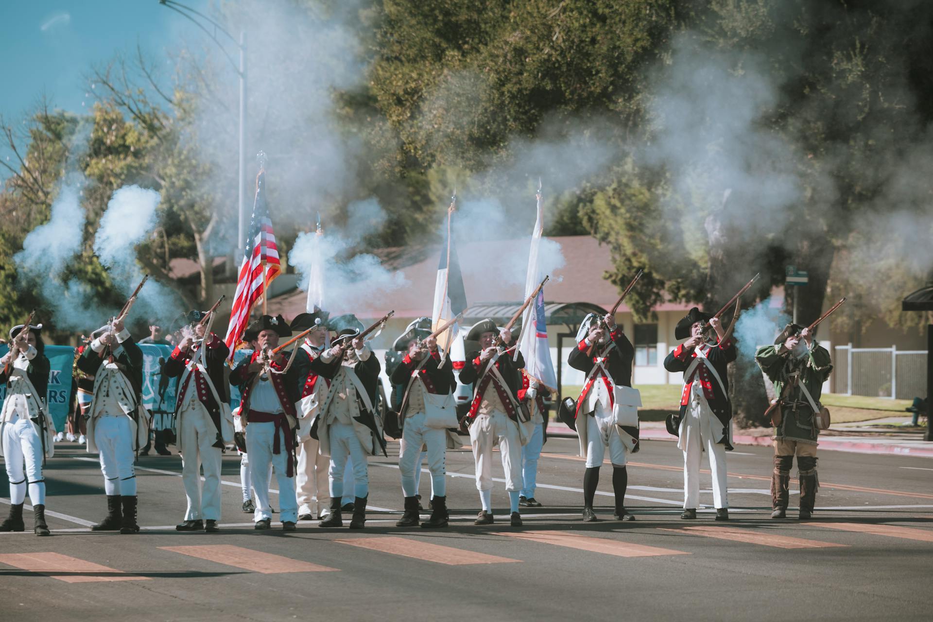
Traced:
[[[9, 501], [20, 505], [26, 499], [27, 485], [29, 500], [35, 505], [46, 503], [46, 480], [42, 477], [42, 439], [35, 432], [35, 425], [18, 414], [3, 424], [3, 455], [7, 463], [9, 479]], [[25, 470], [23, 470], [25, 464]]]

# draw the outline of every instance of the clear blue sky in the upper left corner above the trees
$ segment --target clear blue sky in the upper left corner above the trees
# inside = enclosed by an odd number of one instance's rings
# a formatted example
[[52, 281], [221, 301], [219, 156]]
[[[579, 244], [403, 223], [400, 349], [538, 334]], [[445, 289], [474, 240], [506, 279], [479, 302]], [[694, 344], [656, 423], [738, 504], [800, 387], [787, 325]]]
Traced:
[[[207, 12], [207, 0], [182, 2]], [[138, 42], [169, 70], [168, 51], [188, 39], [191, 48], [209, 42], [158, 0], [0, 0], [0, 114], [19, 120], [43, 91], [57, 108], [88, 110], [93, 98], [83, 76], [92, 65], [132, 54]]]

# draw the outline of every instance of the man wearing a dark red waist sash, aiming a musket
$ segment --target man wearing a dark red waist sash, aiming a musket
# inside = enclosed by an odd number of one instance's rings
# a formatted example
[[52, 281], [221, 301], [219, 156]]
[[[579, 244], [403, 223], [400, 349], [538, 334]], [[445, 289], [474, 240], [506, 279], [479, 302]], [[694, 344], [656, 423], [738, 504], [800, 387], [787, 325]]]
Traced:
[[230, 372], [230, 384], [240, 387], [240, 419], [245, 429], [249, 472], [256, 491], [256, 529], [272, 526], [269, 505], [269, 466], [279, 484], [282, 529], [295, 530], [298, 500], [295, 497], [295, 428], [298, 427], [298, 377], [288, 366], [286, 352], [272, 352], [291, 328], [281, 315], [263, 315], [249, 325], [244, 339], [256, 339], [258, 348]]

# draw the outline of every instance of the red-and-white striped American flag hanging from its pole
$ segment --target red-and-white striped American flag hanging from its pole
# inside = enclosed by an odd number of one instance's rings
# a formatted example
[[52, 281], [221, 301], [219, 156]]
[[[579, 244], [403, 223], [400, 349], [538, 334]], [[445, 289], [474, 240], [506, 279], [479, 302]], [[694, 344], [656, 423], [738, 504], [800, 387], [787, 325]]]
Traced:
[[[266, 171], [259, 169], [256, 176], [256, 200], [253, 203], [253, 217], [246, 236], [246, 250], [240, 277], [236, 283], [233, 308], [230, 310], [230, 325], [224, 341], [230, 348], [230, 359], [249, 324], [249, 314], [260, 296], [265, 294], [266, 285], [279, 275], [279, 250], [272, 231], [272, 219], [266, 204]], [[263, 278], [265, 269], [265, 278]]]

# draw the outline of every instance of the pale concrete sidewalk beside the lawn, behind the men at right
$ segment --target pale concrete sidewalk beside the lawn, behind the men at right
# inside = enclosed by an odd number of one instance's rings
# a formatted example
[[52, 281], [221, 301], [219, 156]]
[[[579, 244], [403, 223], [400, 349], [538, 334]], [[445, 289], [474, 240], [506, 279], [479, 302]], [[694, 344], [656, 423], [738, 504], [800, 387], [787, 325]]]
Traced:
[[[933, 442], [926, 442], [922, 432], [859, 435], [851, 435], [851, 432], [845, 430], [843, 425], [839, 428], [830, 427], [829, 434], [820, 435], [819, 449], [933, 458]], [[551, 421], [548, 424], [548, 435], [576, 437], [577, 433], [564, 423]], [[771, 435], [771, 428], [739, 430], [732, 437], [732, 445], [770, 446]], [[641, 422], [640, 436], [646, 440], [677, 440], [676, 436], [667, 433], [663, 422]]]

